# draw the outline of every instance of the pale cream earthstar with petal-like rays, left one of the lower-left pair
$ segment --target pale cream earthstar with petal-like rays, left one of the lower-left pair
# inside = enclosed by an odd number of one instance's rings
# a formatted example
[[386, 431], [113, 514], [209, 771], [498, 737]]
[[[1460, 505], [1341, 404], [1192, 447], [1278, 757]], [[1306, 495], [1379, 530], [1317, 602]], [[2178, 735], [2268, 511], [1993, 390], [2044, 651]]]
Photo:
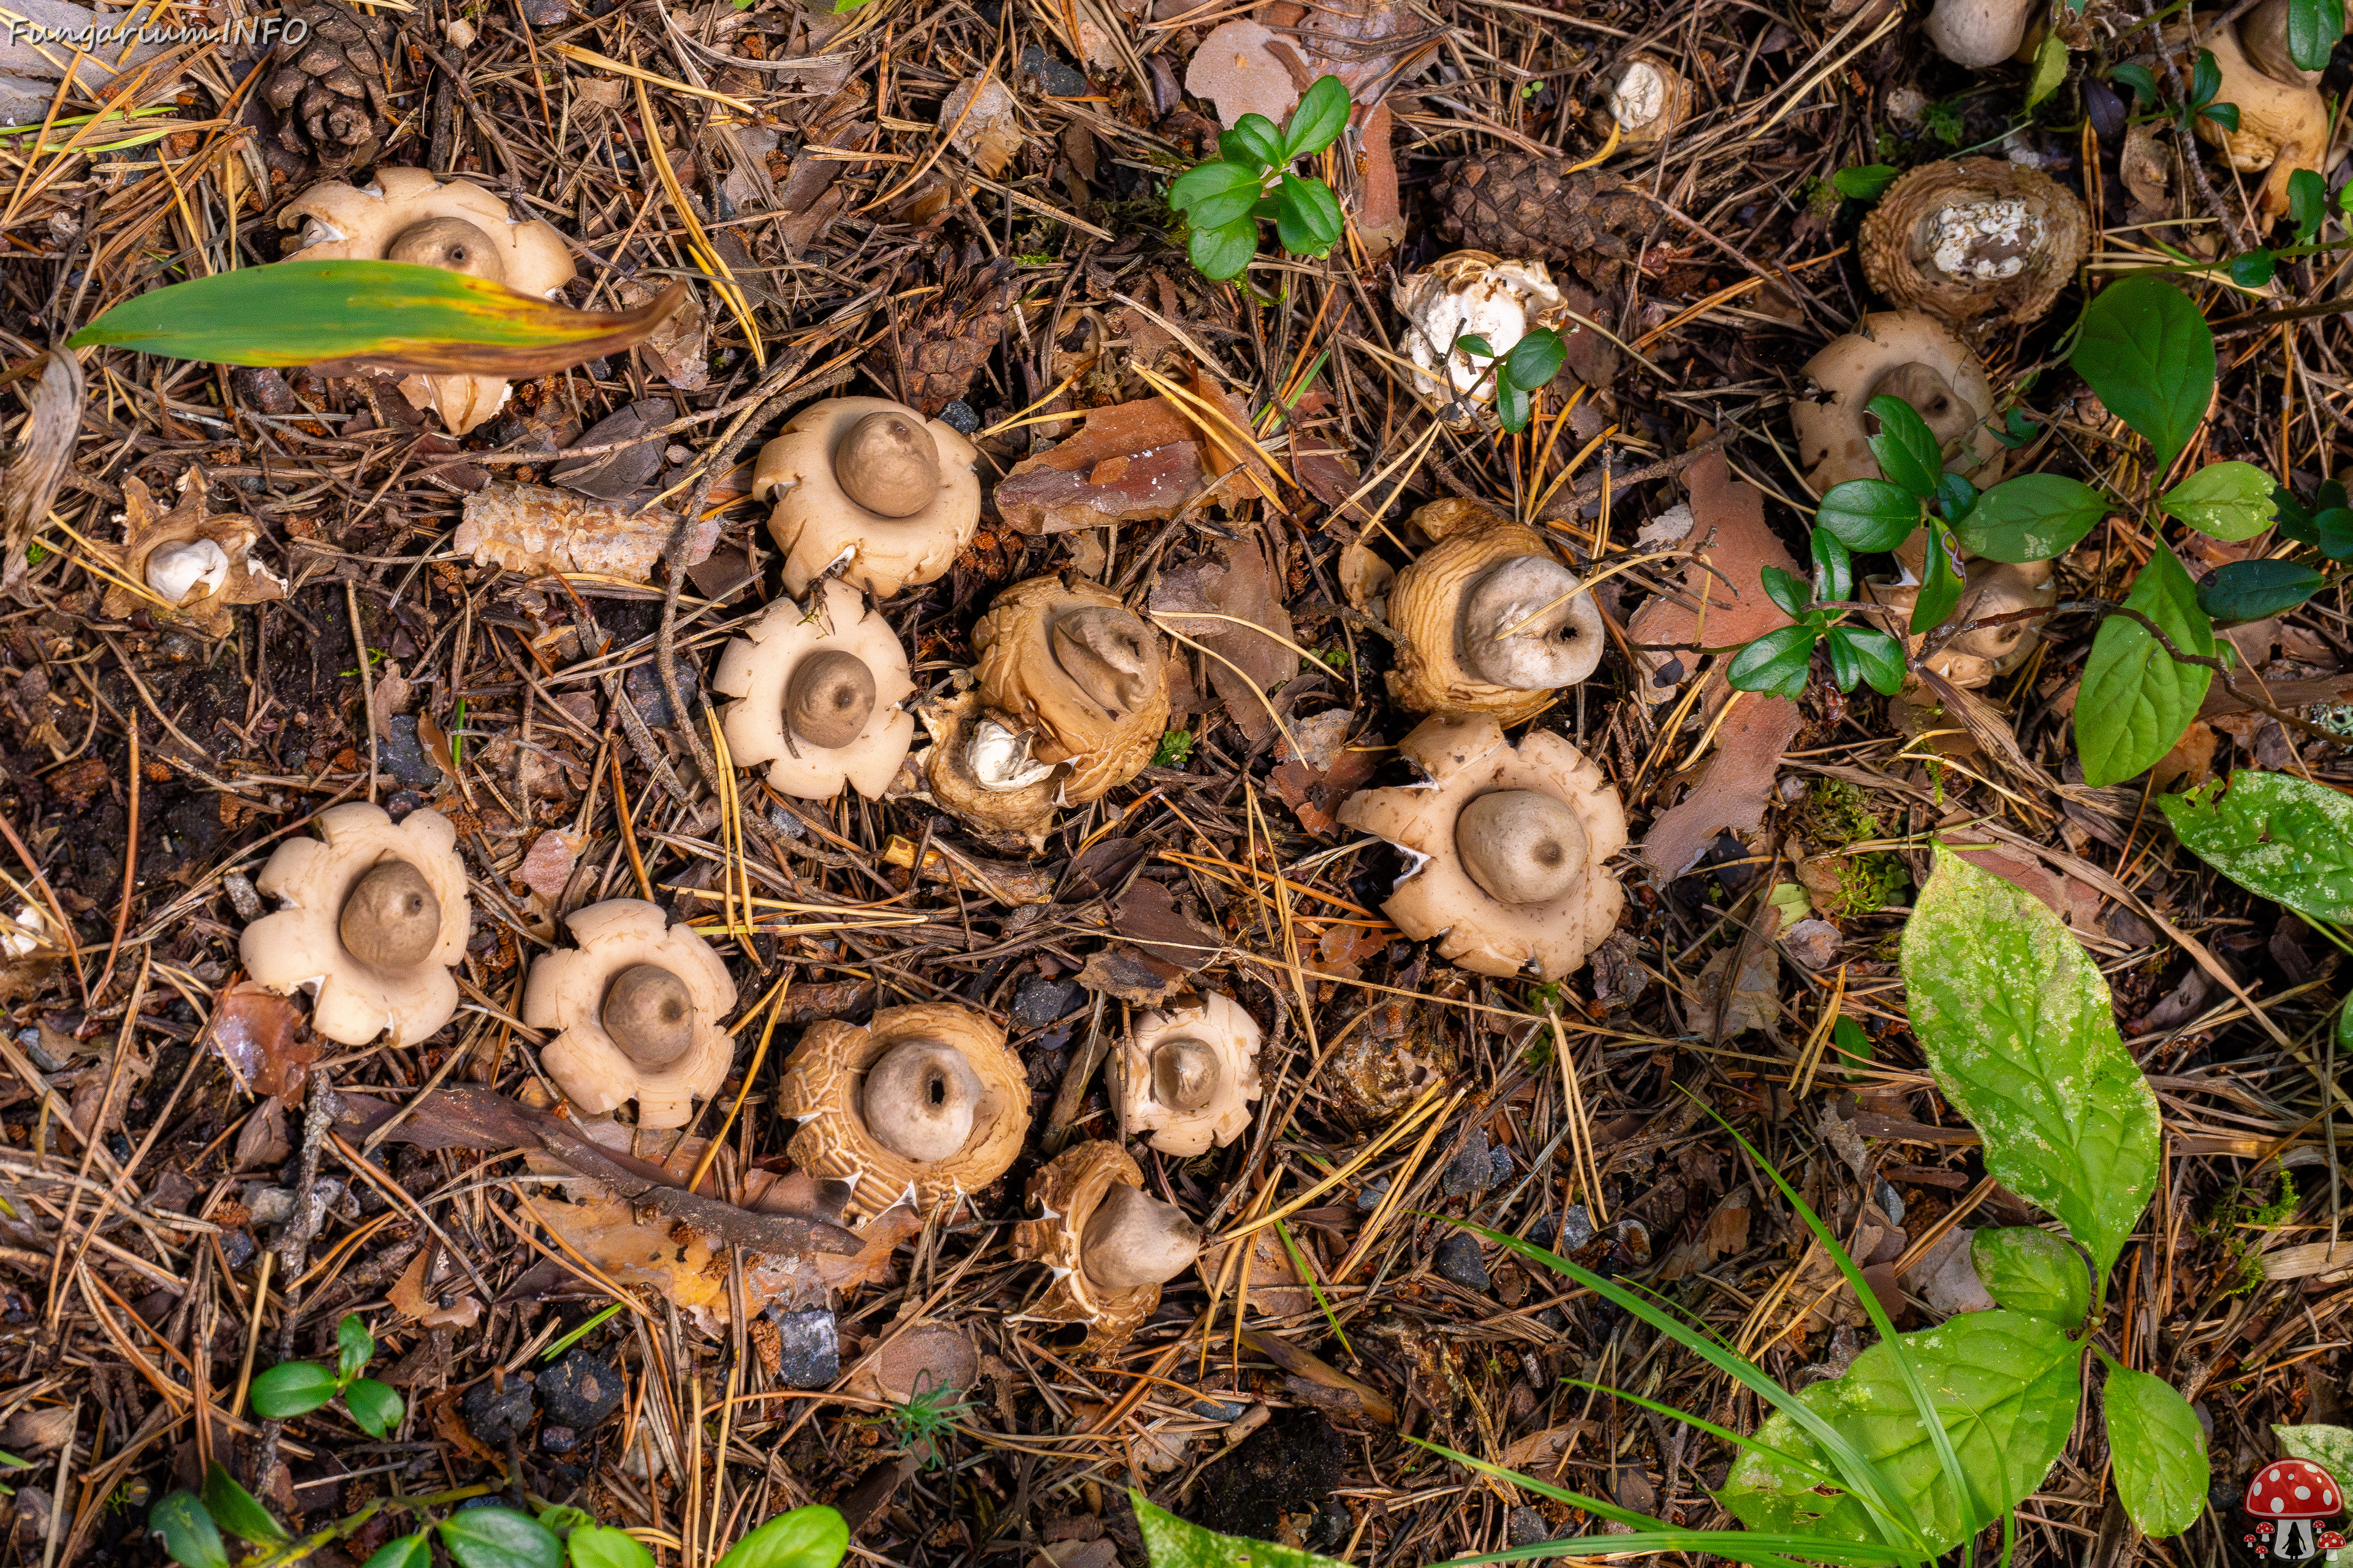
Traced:
[[254, 877], [285, 907], [245, 929], [238, 959], [256, 985], [313, 992], [311, 1027], [336, 1044], [426, 1039], [456, 1013], [449, 966], [473, 924], [456, 830], [438, 811], [395, 825], [351, 802], [320, 811], [318, 835], [287, 839]]

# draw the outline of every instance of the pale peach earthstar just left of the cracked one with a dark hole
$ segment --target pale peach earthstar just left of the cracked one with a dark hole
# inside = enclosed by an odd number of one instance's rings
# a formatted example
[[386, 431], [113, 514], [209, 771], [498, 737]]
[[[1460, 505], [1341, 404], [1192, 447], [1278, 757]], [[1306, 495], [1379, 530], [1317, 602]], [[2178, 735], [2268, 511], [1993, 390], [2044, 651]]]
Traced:
[[638, 1126], [685, 1126], [734, 1063], [727, 961], [642, 898], [593, 903], [565, 926], [579, 945], [541, 954], [522, 990], [522, 1023], [558, 1030], [539, 1065], [586, 1117], [635, 1100]]

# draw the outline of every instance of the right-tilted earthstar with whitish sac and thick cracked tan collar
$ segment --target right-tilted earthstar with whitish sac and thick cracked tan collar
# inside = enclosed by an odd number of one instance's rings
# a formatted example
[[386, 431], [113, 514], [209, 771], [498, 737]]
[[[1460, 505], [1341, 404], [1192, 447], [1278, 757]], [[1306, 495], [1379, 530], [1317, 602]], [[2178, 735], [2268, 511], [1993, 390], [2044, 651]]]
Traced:
[[1400, 708], [1520, 724], [1593, 675], [1602, 611], [1544, 534], [1478, 501], [1433, 501], [1412, 522], [1438, 543], [1388, 590]]

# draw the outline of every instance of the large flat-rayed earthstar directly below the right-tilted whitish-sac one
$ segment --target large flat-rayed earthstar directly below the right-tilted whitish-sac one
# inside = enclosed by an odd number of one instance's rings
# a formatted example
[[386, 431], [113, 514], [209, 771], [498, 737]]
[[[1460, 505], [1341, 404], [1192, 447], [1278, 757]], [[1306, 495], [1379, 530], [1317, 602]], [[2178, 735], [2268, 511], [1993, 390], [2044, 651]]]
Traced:
[[1607, 867], [1626, 806], [1602, 771], [1555, 733], [1513, 748], [1487, 715], [1424, 719], [1398, 752], [1426, 783], [1339, 809], [1414, 860], [1381, 912], [1482, 976], [1558, 980], [1584, 964], [1626, 903]]

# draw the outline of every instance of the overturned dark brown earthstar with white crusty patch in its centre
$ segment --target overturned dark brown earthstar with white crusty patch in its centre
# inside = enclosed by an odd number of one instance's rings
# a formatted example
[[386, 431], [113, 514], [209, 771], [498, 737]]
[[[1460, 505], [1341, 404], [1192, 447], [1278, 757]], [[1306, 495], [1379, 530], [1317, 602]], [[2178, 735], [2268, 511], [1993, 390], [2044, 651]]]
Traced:
[[2049, 174], [2000, 158], [1939, 160], [1887, 186], [1864, 219], [1864, 277], [1955, 327], [2024, 327], [2068, 287], [2089, 240], [2082, 197]]

